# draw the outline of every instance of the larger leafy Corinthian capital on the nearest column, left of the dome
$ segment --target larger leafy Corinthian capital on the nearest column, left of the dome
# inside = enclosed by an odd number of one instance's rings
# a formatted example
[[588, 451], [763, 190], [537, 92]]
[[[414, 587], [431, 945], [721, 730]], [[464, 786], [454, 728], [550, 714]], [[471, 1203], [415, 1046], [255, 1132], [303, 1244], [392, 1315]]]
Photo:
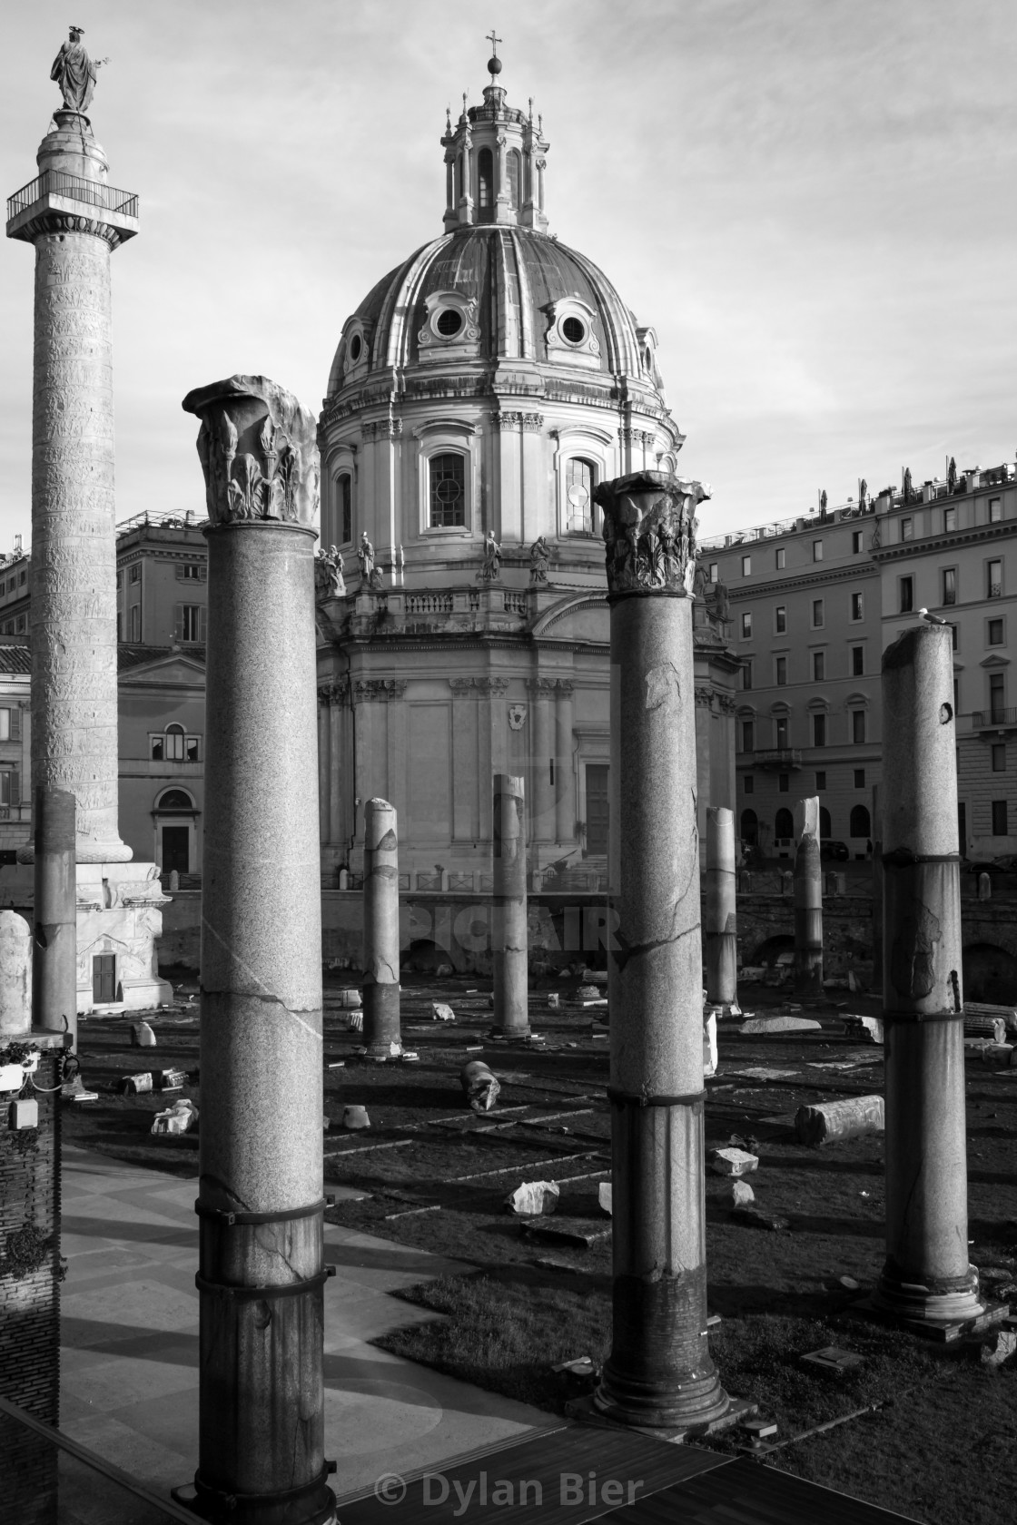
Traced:
[[268, 377], [229, 377], [183, 400], [201, 419], [198, 458], [212, 525], [311, 526], [319, 503], [314, 415]]

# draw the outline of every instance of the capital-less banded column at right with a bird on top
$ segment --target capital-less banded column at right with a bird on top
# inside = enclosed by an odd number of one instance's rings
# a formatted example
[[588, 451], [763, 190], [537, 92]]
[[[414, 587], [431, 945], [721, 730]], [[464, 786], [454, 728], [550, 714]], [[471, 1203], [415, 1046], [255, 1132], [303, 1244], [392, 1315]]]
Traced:
[[968, 1260], [953, 654], [919, 624], [883, 653], [886, 1264], [875, 1305], [979, 1319]]

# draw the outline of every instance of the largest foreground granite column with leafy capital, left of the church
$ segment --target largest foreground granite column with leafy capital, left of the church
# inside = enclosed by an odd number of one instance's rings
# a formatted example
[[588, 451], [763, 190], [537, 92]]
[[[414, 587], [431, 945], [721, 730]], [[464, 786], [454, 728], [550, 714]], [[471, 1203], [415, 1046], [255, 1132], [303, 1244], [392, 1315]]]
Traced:
[[210, 520], [191, 1507], [323, 1525], [316, 427], [264, 377], [183, 406]]

